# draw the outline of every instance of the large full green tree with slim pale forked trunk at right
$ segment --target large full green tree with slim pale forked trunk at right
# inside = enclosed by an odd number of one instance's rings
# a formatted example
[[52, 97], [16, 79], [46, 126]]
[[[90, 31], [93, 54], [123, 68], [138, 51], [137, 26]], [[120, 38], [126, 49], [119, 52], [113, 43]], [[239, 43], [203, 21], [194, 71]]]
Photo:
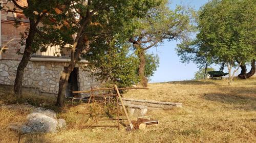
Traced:
[[[230, 84], [240, 65], [255, 59], [254, 4], [251, 0], [208, 2], [199, 12], [196, 39], [187, 44], [185, 50], [181, 49], [181, 54], [186, 56], [195, 51], [196, 59], [205, 57], [206, 62], [225, 63]], [[238, 65], [236, 61], [239, 61]], [[231, 73], [232, 67], [236, 66]]]

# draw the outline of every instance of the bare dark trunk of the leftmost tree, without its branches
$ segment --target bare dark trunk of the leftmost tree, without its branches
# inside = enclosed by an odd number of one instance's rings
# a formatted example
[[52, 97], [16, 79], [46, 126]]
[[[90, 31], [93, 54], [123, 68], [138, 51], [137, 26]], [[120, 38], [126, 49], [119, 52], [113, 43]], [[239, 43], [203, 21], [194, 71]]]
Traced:
[[16, 72], [16, 78], [15, 78], [15, 82], [14, 82], [14, 95], [15, 96], [20, 96], [22, 97], [22, 81], [23, 81], [23, 76], [24, 76], [24, 69], [26, 68], [26, 66], [28, 65], [28, 62], [30, 60], [30, 56], [31, 56], [31, 45], [32, 42], [35, 38], [35, 30], [30, 29], [29, 31], [29, 35], [26, 39], [26, 44], [25, 44], [25, 50], [24, 50], [24, 54], [22, 57], [22, 61], [20, 61], [18, 68], [17, 68], [17, 72]]

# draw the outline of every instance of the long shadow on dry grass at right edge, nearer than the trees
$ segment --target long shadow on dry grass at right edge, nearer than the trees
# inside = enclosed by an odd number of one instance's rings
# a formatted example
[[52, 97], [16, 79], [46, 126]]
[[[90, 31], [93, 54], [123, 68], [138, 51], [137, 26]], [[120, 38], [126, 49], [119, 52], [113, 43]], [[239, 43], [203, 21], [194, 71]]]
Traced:
[[203, 96], [204, 99], [224, 104], [232, 104], [232, 109], [256, 110], [256, 97], [241, 96], [223, 93], [210, 93]]

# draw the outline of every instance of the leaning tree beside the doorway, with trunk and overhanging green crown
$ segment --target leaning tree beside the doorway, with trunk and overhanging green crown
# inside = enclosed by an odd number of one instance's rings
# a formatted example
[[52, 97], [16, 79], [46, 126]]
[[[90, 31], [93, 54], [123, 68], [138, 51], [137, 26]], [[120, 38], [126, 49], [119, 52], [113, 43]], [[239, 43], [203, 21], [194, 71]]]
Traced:
[[[155, 6], [155, 1], [77, 1], [72, 3], [69, 10], [62, 12], [62, 17], [68, 23], [72, 23], [69, 28], [74, 31], [75, 40], [71, 44], [71, 61], [60, 76], [59, 90], [56, 105], [63, 106], [63, 91], [66, 88], [70, 73], [75, 64], [80, 59], [82, 52], [90, 48], [100, 48], [98, 44], [106, 43], [107, 37], [116, 33], [129, 34], [132, 29], [123, 29], [124, 25], [129, 25], [134, 17], [142, 17], [148, 8]], [[76, 17], [76, 20], [67, 19], [69, 16]], [[102, 38], [102, 37], [105, 37]], [[102, 39], [101, 43], [96, 43]]]

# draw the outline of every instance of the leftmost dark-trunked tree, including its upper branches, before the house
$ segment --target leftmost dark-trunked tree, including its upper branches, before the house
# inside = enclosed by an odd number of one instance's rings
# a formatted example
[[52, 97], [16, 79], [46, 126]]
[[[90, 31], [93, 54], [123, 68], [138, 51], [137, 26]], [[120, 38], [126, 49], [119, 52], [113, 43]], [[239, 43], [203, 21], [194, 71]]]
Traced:
[[[24, 76], [24, 69], [26, 68], [28, 61], [30, 60], [31, 54], [34, 51], [35, 47], [38, 47], [36, 43], [33, 43], [35, 36], [38, 31], [38, 24], [46, 17], [49, 18], [47, 13], [54, 11], [54, 8], [58, 5], [61, 5], [61, 1], [54, 1], [51, 2], [49, 5], [49, 1], [31, 1], [27, 0], [27, 6], [20, 6], [17, 0], [8, 0], [8, 2], [13, 2], [14, 8], [13, 10], [16, 11], [20, 9], [23, 11], [23, 14], [29, 18], [29, 28], [24, 33], [21, 33], [22, 37], [20, 40], [20, 45], [24, 46], [24, 53], [22, 60], [20, 61], [17, 72], [16, 78], [14, 82], [14, 94], [16, 96], [21, 96], [21, 87], [22, 81]], [[18, 26], [18, 22], [17, 25]]]

